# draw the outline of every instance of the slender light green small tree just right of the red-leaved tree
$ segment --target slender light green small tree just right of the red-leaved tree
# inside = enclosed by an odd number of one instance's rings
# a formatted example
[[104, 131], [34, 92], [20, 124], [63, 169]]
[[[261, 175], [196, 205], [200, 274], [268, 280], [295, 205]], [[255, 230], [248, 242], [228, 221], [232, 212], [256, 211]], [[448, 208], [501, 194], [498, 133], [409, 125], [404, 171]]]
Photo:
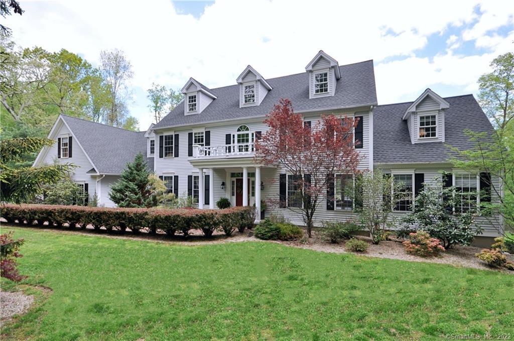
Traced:
[[370, 232], [373, 244], [378, 244], [386, 230], [395, 224], [391, 213], [393, 203], [405, 199], [401, 194], [402, 184], [394, 182], [392, 176], [377, 169], [358, 176], [355, 186], [361, 190], [354, 192], [354, 201], [363, 203], [362, 207], [356, 208], [360, 224]]

